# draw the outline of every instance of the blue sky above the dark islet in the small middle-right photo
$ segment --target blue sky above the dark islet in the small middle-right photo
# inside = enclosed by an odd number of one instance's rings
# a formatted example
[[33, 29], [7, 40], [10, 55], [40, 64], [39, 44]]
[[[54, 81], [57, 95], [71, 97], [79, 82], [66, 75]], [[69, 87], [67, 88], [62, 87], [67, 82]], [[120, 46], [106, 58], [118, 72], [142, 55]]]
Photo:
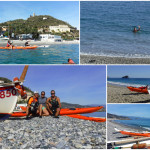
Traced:
[[129, 75], [130, 78], [150, 78], [150, 65], [114, 65], [107, 66], [107, 76], [120, 78]]

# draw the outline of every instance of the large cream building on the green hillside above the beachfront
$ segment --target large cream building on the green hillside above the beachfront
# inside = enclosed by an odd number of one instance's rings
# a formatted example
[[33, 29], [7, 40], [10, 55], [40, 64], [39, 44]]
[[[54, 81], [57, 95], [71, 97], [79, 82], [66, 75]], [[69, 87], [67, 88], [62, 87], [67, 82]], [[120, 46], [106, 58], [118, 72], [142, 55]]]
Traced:
[[68, 25], [49, 26], [50, 32], [70, 32]]

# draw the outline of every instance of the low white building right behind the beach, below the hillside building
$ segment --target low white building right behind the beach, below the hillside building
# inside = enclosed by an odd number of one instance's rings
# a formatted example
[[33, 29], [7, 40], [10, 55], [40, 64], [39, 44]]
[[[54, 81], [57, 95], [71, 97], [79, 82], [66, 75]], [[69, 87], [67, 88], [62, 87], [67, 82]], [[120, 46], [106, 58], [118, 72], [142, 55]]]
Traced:
[[41, 41], [49, 41], [49, 42], [61, 42], [61, 36], [51, 35], [51, 34], [40, 34]]

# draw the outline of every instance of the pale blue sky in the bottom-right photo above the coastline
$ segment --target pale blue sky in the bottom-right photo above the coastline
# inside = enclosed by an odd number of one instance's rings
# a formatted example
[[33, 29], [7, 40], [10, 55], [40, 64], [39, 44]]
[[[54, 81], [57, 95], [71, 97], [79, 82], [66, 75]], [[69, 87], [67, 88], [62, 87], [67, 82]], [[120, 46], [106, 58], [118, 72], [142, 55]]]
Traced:
[[150, 118], [150, 104], [108, 104], [107, 112], [120, 116]]

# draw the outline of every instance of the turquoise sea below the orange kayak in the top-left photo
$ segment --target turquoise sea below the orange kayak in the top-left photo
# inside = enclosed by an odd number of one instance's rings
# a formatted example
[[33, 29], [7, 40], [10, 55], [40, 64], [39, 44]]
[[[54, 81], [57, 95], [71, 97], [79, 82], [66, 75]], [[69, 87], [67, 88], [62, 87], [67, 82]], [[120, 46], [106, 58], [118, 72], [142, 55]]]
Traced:
[[78, 44], [57, 44], [33, 50], [0, 50], [0, 64], [79, 64]]

